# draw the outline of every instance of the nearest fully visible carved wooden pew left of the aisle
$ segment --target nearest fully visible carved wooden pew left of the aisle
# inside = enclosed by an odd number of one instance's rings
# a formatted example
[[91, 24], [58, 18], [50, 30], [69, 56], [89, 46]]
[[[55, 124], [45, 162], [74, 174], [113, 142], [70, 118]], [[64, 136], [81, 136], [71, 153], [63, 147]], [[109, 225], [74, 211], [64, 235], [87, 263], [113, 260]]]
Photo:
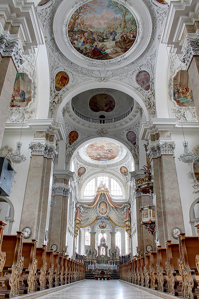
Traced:
[[5, 298], [19, 295], [19, 277], [22, 274], [24, 265], [24, 257], [22, 257], [24, 233], [21, 231], [17, 231], [16, 233], [16, 235], [4, 235], [1, 245], [1, 250], [7, 254], [3, 269], [3, 272], [7, 273], [5, 278], [7, 286]]

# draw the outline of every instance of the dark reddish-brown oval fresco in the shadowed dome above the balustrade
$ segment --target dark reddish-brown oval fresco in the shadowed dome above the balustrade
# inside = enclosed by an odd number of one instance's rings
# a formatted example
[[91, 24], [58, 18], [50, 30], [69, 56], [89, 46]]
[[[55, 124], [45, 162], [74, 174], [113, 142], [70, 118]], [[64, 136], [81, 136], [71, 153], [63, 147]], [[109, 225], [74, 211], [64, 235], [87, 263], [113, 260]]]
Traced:
[[96, 94], [91, 97], [89, 107], [93, 112], [111, 112], [115, 108], [115, 100], [108, 94]]

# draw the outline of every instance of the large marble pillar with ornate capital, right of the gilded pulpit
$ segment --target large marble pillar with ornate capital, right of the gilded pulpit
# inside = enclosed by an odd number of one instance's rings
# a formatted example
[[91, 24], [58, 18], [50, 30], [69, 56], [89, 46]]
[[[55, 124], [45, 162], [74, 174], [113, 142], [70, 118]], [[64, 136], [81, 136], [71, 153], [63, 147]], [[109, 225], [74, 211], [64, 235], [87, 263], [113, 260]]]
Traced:
[[156, 242], [163, 247], [166, 240], [176, 242], [172, 235], [174, 227], [180, 228], [182, 232], [185, 230], [174, 148], [175, 144], [170, 138], [169, 131], [159, 131], [158, 136], [151, 135], [147, 153], [154, 181]]

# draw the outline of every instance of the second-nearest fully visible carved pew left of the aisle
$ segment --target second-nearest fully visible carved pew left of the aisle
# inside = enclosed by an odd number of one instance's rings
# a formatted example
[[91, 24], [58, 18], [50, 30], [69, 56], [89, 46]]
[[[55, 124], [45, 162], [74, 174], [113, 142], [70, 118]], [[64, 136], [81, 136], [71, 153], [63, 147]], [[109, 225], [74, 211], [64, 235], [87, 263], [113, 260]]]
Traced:
[[32, 242], [23, 242], [23, 247], [22, 247], [22, 256], [24, 257], [23, 271], [25, 271], [25, 277], [23, 279], [23, 282], [25, 284], [24, 294], [34, 292], [35, 290], [34, 278], [37, 270], [37, 260], [35, 258], [36, 244], [37, 244], [36, 239], [32, 239]]

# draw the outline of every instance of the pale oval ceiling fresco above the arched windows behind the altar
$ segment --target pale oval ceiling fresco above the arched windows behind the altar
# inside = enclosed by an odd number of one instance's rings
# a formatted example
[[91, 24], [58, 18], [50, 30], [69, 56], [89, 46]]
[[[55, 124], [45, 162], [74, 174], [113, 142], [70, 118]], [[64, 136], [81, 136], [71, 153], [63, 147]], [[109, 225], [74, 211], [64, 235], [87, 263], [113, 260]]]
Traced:
[[119, 147], [110, 141], [95, 141], [89, 144], [86, 153], [89, 158], [96, 161], [109, 161], [117, 157]]

